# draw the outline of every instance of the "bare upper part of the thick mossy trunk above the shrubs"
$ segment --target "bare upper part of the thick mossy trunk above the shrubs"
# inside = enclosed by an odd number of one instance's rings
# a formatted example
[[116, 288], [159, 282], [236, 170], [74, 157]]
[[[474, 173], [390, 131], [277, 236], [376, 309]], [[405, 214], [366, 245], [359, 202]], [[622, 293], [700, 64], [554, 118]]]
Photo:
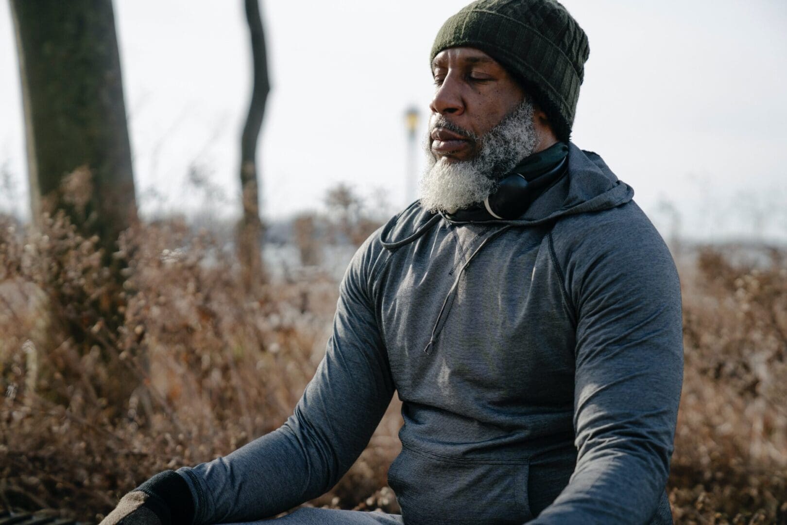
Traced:
[[136, 218], [111, 0], [11, 0], [34, 220], [64, 209], [105, 257]]

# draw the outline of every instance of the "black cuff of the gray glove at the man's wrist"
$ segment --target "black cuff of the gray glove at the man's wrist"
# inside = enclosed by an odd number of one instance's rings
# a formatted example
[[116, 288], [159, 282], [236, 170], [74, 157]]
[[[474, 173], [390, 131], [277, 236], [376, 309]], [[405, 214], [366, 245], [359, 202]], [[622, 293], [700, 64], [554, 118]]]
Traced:
[[150, 496], [145, 506], [156, 513], [161, 523], [191, 525], [194, 522], [194, 499], [191, 497], [191, 490], [186, 480], [176, 471], [159, 472], [136, 490]]

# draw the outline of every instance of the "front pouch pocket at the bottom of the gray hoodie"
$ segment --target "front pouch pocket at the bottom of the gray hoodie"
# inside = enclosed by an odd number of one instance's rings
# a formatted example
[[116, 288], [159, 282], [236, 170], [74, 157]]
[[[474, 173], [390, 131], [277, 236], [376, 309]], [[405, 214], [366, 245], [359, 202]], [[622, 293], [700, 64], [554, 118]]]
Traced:
[[533, 516], [527, 459], [460, 459], [403, 446], [388, 470], [405, 523], [504, 525]]

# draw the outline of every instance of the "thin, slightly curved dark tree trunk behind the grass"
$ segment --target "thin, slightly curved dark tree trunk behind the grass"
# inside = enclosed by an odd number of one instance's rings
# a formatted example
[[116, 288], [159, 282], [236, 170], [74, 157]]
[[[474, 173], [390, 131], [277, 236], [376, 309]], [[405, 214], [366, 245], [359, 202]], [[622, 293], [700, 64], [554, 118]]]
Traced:
[[259, 0], [244, 0], [246, 22], [249, 24], [253, 60], [253, 85], [249, 113], [241, 139], [241, 191], [243, 216], [238, 225], [238, 256], [244, 280], [248, 284], [260, 282], [262, 267], [262, 221], [260, 220], [259, 183], [257, 179], [257, 140], [265, 115], [265, 103], [271, 91], [268, 80], [268, 56], [262, 28]]

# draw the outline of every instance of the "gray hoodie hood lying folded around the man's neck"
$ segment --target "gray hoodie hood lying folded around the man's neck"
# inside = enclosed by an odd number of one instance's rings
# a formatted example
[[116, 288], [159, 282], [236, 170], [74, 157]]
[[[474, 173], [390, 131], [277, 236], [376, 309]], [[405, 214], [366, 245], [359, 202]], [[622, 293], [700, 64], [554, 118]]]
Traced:
[[472, 222], [529, 227], [562, 216], [615, 208], [634, 198], [634, 189], [619, 180], [597, 153], [580, 150], [569, 142], [567, 162], [566, 176], [539, 195], [518, 219], [456, 220], [445, 213], [427, 212], [421, 208], [419, 201], [415, 201], [382, 228], [382, 246], [395, 250], [413, 242], [441, 219], [453, 224]]

